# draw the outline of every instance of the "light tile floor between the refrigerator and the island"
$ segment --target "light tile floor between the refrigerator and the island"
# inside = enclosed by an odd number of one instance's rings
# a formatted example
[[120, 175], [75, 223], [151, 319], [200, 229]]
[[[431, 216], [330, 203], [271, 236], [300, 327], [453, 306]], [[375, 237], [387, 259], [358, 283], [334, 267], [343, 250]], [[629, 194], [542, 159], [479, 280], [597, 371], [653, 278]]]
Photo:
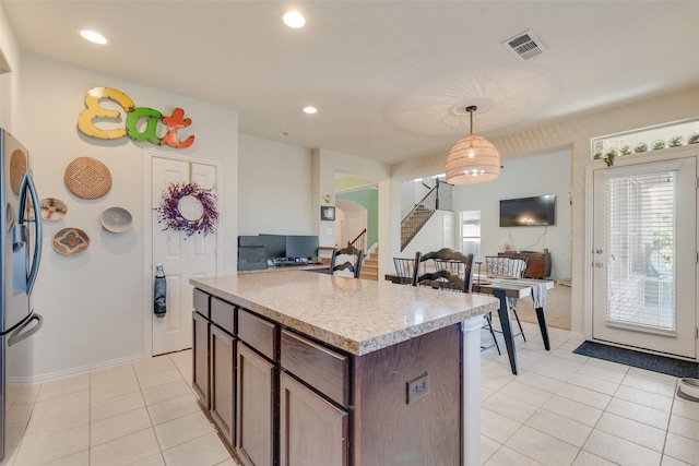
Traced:
[[191, 390], [191, 350], [27, 387], [2, 465], [235, 466]]

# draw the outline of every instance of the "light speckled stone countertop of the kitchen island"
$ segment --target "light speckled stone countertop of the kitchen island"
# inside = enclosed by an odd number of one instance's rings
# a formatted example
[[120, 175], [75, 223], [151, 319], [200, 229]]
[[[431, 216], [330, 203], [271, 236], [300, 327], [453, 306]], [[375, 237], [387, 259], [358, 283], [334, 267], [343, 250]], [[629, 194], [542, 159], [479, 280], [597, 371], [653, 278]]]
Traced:
[[191, 278], [197, 288], [362, 356], [498, 309], [490, 296], [309, 271]]

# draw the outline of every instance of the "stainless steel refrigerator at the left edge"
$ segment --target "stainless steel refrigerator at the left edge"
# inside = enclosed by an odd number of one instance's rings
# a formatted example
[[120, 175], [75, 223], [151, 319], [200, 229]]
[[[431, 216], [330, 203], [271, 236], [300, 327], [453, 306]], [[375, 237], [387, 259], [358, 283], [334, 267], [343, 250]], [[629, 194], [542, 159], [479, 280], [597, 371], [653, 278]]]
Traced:
[[[0, 129], [0, 459], [16, 446], [29, 415], [17, 408], [27, 404], [22, 383], [33, 377], [32, 340], [43, 318], [34, 312], [32, 289], [42, 256], [42, 216], [29, 170], [29, 154], [10, 134]], [[28, 339], [27, 339], [28, 338]], [[31, 401], [29, 401], [31, 402]], [[20, 414], [24, 413], [24, 415]], [[31, 410], [29, 410], [31, 413]]]

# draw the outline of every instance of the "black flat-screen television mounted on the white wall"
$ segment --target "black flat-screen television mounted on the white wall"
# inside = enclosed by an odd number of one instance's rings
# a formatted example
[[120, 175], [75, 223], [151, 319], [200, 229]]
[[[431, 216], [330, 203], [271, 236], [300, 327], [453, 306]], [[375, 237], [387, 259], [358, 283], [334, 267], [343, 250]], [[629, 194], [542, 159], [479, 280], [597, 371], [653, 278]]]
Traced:
[[500, 201], [501, 227], [556, 225], [556, 195], [505, 199]]

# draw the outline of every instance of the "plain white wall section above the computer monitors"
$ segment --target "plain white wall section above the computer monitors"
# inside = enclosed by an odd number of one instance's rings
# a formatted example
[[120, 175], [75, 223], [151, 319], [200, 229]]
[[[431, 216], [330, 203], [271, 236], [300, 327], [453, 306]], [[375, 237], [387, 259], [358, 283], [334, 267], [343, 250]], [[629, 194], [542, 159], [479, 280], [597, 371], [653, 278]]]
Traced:
[[238, 235], [318, 235], [310, 151], [246, 134], [238, 141]]

